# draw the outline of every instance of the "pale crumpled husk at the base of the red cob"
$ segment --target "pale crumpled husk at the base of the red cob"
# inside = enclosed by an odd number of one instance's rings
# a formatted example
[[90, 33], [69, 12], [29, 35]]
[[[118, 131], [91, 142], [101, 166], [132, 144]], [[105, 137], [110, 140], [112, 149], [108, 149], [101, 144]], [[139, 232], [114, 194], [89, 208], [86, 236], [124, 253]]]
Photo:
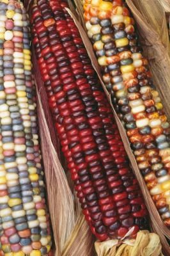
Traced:
[[135, 241], [132, 240], [121, 241], [121, 244], [118, 240], [97, 241], [95, 249], [98, 256], [163, 256], [157, 234], [139, 231]]

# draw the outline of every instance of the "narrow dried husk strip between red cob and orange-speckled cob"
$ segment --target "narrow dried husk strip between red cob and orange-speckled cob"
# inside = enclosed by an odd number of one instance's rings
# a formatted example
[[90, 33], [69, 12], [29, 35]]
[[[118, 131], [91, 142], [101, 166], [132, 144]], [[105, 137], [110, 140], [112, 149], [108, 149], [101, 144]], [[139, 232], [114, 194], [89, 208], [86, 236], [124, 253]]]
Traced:
[[[81, 4], [81, 0], [75, 0], [75, 4], [77, 6], [77, 14], [79, 14], [82, 17], [83, 13], [81, 13], [82, 12], [81, 8], [79, 8], [79, 4]], [[160, 218], [160, 215], [158, 214], [157, 208], [156, 208], [156, 206], [155, 206], [155, 204], [154, 204], [154, 202], [153, 202], [153, 200], [151, 198], [150, 192], [148, 191], [148, 188], [146, 187], [146, 184], [145, 184], [145, 182], [143, 180], [141, 172], [139, 171], [139, 168], [137, 167], [137, 163], [135, 161], [134, 154], [132, 153], [132, 150], [130, 148], [130, 144], [128, 142], [126, 131], [125, 131], [123, 125], [121, 124], [120, 119], [118, 118], [118, 115], [114, 111], [110, 95], [107, 92], [104, 83], [102, 82], [102, 75], [101, 75], [101, 72], [100, 72], [100, 67], [98, 66], [98, 61], [97, 61], [97, 58], [95, 57], [95, 53], [93, 52], [93, 47], [91, 45], [91, 42], [89, 41], [89, 38], [88, 38], [86, 32], [82, 28], [80, 22], [76, 19], [75, 15], [73, 15], [73, 13], [70, 12], [70, 10], [68, 8], [66, 8], [66, 10], [72, 16], [72, 18], [73, 18], [77, 28], [79, 29], [79, 33], [81, 34], [81, 37], [82, 37], [82, 40], [83, 40], [84, 45], [86, 47], [86, 50], [88, 51], [89, 58], [91, 59], [91, 63], [93, 65], [93, 68], [96, 70], [96, 72], [98, 74], [98, 78], [100, 79], [100, 82], [101, 82], [101, 84], [102, 84], [102, 86], [104, 88], [105, 95], [106, 95], [107, 99], [109, 100], [109, 102], [111, 104], [112, 111], [114, 113], [114, 118], [116, 120], [116, 123], [118, 124], [118, 128], [120, 130], [120, 135], [121, 135], [121, 138], [123, 140], [123, 144], [125, 146], [126, 152], [127, 152], [128, 157], [130, 159], [130, 163], [132, 164], [132, 170], [134, 171], [135, 176], [137, 177], [137, 180], [139, 182], [141, 191], [142, 191], [143, 196], [144, 196], [144, 201], [145, 201], [146, 207], [148, 208], [148, 211], [150, 213], [150, 222], [151, 222], [152, 230], [153, 230], [153, 232], [158, 234], [158, 236], [160, 238], [160, 241], [161, 241], [161, 244], [162, 244], [162, 250], [164, 252], [164, 255], [168, 255], [169, 256], [170, 255], [170, 248], [169, 248], [169, 244], [166, 241], [165, 235], [169, 238], [170, 237], [169, 236], [170, 235], [170, 231], [164, 225], [162, 219]], [[151, 234], [150, 236], [153, 236], [153, 241], [156, 239], [155, 234]], [[160, 241], [159, 241], [159, 243], [160, 243]], [[150, 254], [148, 254], [148, 255], [150, 255]]]

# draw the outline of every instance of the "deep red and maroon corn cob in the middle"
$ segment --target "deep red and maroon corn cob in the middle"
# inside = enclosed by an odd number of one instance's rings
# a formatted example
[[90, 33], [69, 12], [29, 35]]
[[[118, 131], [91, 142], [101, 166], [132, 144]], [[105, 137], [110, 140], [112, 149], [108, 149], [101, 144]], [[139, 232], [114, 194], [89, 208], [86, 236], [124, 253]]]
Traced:
[[38, 0], [33, 45], [61, 149], [95, 236], [147, 228], [146, 207], [123, 142], [66, 1]]

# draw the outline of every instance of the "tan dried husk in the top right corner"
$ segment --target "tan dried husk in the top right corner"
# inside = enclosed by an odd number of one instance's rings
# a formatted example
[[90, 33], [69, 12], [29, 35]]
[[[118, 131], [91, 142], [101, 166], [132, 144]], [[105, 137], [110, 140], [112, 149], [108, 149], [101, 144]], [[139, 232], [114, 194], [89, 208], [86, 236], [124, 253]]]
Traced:
[[159, 1], [127, 0], [126, 2], [134, 15], [144, 54], [150, 61], [154, 83], [164, 102], [166, 114], [170, 118], [170, 44], [166, 13]]

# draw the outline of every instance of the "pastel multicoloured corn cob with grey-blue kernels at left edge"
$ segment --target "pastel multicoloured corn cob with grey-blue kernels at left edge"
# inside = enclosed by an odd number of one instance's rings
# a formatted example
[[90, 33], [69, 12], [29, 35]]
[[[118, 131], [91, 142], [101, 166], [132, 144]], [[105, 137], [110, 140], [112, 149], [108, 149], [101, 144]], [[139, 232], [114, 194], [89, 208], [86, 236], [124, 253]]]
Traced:
[[19, 1], [0, 12], [0, 255], [50, 255], [29, 22]]

